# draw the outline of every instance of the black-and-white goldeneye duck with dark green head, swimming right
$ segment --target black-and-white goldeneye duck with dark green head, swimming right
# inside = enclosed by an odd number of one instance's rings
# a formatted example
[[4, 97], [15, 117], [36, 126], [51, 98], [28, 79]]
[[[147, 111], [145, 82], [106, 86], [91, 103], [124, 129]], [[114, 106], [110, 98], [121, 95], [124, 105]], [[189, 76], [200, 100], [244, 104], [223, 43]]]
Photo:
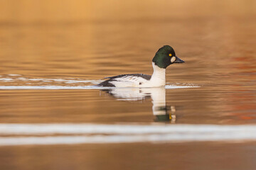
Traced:
[[152, 76], [146, 74], [122, 74], [114, 77], [105, 77], [106, 81], [97, 86], [109, 87], [157, 87], [166, 85], [166, 67], [174, 63], [182, 63], [174, 49], [169, 45], [161, 47], [152, 60], [154, 72]]

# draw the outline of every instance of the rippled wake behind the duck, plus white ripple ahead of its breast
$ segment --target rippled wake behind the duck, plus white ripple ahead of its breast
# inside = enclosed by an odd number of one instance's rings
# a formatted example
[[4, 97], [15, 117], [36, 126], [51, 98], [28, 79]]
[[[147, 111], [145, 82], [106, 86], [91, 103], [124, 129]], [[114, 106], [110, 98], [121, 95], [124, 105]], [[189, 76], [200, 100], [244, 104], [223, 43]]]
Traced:
[[[0, 89], [2, 90], [63, 90], [63, 89], [113, 89], [113, 87], [95, 86], [102, 80], [94, 79], [44, 79], [44, 78], [28, 78], [19, 74], [8, 74], [0, 76]], [[71, 85], [71, 86], [67, 86]], [[184, 89], [199, 87], [193, 84], [168, 84], [166, 89]]]

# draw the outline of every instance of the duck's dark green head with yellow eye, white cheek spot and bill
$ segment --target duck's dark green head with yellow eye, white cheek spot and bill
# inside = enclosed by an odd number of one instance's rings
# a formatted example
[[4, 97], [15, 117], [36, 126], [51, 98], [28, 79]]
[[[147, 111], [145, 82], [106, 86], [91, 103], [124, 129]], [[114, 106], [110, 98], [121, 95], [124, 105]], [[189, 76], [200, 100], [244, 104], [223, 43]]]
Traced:
[[184, 61], [176, 56], [174, 49], [171, 46], [164, 45], [164, 47], [161, 47], [156, 52], [152, 62], [154, 62], [158, 67], [166, 69], [170, 64], [182, 63]]

